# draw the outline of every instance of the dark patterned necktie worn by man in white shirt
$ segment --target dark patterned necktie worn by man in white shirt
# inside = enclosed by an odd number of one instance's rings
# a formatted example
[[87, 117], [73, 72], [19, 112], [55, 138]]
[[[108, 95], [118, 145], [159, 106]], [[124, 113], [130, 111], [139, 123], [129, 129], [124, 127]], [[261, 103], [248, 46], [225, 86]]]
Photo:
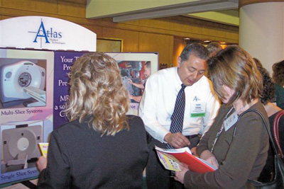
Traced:
[[[180, 88], [177, 99], [175, 100], [175, 109], [173, 110], [172, 117], [170, 117], [171, 133], [176, 133], [176, 132], [182, 133], [183, 117], [185, 115], [185, 87], [186, 86], [182, 84], [182, 88]], [[170, 146], [170, 144], [167, 144], [167, 149], [173, 149], [173, 148], [174, 147]]]

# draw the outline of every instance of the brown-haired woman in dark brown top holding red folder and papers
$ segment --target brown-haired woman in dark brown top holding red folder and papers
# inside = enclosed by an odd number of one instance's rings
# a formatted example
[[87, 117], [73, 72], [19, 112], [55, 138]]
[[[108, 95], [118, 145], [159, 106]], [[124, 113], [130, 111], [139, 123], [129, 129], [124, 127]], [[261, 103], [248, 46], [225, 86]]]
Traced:
[[261, 117], [247, 110], [266, 110], [258, 100], [262, 77], [252, 57], [237, 45], [207, 62], [214, 91], [223, 105], [214, 124], [197, 146], [201, 159], [217, 166], [208, 173], [188, 168], [175, 173], [185, 188], [244, 188], [260, 175], [268, 156], [268, 133]]

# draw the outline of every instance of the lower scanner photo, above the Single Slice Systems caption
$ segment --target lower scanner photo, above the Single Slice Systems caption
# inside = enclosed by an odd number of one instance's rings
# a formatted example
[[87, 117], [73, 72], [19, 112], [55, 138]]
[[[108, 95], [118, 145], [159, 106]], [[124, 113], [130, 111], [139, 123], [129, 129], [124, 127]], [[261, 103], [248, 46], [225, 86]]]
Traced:
[[43, 142], [43, 121], [1, 124], [1, 173], [35, 167]]

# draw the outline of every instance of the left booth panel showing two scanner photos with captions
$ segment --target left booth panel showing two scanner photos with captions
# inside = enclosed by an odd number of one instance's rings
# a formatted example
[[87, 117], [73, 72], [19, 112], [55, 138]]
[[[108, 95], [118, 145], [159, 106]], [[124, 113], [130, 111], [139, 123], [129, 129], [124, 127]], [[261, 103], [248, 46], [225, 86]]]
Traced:
[[38, 142], [53, 130], [54, 53], [0, 49], [0, 183], [38, 176]]

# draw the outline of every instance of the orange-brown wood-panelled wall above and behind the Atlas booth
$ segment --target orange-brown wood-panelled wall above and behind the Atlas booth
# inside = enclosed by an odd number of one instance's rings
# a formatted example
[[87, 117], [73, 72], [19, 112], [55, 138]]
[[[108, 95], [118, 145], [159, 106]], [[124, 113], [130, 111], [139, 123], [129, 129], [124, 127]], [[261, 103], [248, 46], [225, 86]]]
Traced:
[[16, 16], [50, 16], [77, 23], [98, 38], [123, 40], [124, 52], [158, 52], [159, 63], [177, 64], [182, 40], [197, 38], [239, 43], [239, 28], [183, 16], [126, 23], [111, 18], [86, 19], [87, 0], [0, 0], [0, 20]]

